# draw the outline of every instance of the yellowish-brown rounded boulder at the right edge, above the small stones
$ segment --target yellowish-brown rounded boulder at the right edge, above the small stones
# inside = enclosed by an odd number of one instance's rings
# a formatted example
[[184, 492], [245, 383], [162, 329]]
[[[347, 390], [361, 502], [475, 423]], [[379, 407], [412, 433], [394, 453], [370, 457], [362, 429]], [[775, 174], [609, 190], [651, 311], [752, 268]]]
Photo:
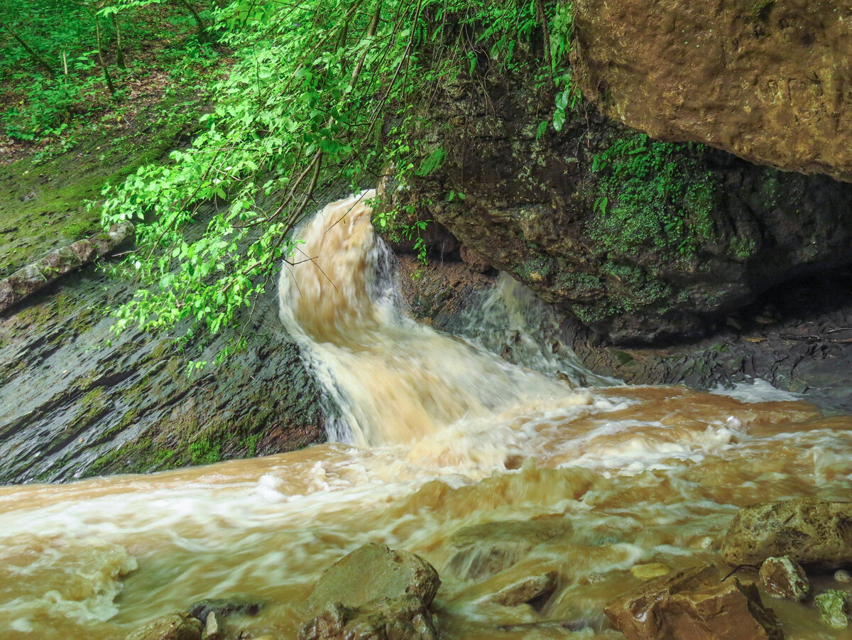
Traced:
[[852, 503], [797, 498], [740, 509], [722, 542], [730, 565], [790, 556], [815, 568], [852, 562]]

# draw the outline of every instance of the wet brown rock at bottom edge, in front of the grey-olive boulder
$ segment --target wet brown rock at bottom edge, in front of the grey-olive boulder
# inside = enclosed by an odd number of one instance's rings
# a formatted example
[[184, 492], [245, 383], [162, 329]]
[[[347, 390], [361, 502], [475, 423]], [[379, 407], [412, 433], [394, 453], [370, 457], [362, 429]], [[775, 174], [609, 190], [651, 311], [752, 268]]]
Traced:
[[429, 609], [416, 596], [381, 598], [360, 608], [331, 603], [299, 631], [299, 640], [438, 640]]

